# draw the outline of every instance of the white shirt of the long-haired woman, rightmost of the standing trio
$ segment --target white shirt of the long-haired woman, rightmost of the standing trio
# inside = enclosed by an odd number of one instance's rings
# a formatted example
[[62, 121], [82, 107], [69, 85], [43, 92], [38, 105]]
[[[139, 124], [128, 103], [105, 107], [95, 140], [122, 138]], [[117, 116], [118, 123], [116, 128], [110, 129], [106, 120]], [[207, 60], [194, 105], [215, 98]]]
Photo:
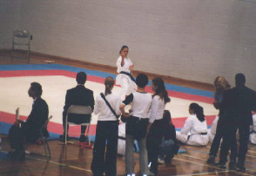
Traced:
[[163, 119], [164, 111], [165, 111], [164, 99], [160, 99], [159, 95], [155, 95], [152, 99], [149, 122], [153, 123], [155, 120]]

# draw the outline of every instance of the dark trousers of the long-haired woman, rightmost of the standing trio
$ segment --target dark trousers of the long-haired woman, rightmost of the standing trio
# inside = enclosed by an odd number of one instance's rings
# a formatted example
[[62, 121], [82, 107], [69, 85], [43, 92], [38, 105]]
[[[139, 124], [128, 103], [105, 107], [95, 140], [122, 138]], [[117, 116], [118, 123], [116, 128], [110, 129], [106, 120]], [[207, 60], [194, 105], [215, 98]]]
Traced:
[[150, 170], [158, 174], [158, 153], [159, 146], [163, 139], [163, 123], [161, 120], [154, 121], [150, 128], [149, 134], [146, 136], [146, 149], [148, 162], [151, 162]]

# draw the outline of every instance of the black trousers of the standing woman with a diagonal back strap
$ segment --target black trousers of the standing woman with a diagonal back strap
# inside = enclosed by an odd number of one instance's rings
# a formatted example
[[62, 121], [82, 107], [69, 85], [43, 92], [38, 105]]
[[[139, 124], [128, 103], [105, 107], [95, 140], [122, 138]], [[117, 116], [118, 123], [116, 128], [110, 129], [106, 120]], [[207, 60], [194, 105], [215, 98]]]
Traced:
[[[106, 144], [107, 143], [107, 144]], [[106, 153], [105, 152], [106, 146]], [[93, 147], [91, 171], [93, 175], [117, 174], [118, 121], [98, 121]]]

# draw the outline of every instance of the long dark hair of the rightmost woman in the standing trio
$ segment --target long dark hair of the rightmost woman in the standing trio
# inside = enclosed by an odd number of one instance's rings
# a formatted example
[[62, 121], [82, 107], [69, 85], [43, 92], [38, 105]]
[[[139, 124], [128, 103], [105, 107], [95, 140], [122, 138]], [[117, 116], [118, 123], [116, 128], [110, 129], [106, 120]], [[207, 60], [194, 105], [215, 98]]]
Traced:
[[159, 95], [160, 96], [160, 99], [164, 100], [165, 101], [165, 104], [167, 102], [170, 102], [171, 99], [169, 98], [168, 96], [168, 92], [166, 91], [165, 89], [165, 82], [163, 81], [162, 78], [160, 77], [155, 77], [153, 80], [152, 80], [152, 84], [155, 85], [155, 86], [158, 86], [158, 88], [156, 89], [156, 92], [155, 94], [153, 95], [153, 97], [155, 95]]

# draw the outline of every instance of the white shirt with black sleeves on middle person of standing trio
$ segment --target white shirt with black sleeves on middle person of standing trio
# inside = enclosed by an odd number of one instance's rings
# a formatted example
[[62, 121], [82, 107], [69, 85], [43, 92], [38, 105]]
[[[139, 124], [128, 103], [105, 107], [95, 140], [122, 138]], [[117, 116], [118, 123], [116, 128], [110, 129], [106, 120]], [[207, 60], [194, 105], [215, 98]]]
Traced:
[[134, 92], [128, 95], [123, 104], [131, 103], [131, 115], [138, 118], [149, 118], [148, 112], [152, 103], [152, 95], [142, 92]]

